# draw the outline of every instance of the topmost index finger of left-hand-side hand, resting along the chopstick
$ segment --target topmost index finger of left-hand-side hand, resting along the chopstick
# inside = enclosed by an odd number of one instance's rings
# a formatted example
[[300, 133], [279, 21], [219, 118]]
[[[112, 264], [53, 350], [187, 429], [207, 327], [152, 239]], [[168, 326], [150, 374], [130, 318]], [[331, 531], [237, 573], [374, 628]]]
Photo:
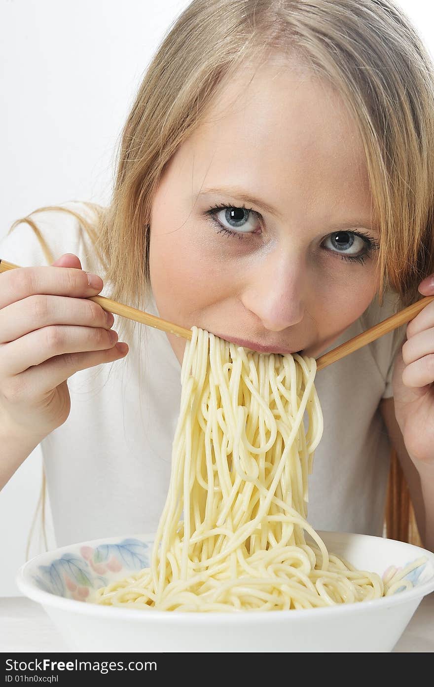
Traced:
[[31, 295], [96, 295], [104, 286], [98, 275], [71, 267], [18, 267], [0, 273], [0, 308]]

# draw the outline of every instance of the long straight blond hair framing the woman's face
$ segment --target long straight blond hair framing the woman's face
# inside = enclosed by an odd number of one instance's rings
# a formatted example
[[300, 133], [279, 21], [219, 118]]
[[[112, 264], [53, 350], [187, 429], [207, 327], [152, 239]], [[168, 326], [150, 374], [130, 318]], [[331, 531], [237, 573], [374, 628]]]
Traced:
[[[404, 12], [390, 0], [193, 0], [139, 87], [111, 205], [95, 207], [93, 225], [82, 221], [115, 300], [141, 309], [148, 300], [152, 199], [165, 165], [218, 89], [274, 55], [301, 61], [341, 95], [361, 135], [378, 219], [380, 304], [386, 290], [400, 307], [419, 299], [418, 284], [434, 271], [434, 69]], [[133, 327], [124, 319], [119, 336], [128, 341]]]

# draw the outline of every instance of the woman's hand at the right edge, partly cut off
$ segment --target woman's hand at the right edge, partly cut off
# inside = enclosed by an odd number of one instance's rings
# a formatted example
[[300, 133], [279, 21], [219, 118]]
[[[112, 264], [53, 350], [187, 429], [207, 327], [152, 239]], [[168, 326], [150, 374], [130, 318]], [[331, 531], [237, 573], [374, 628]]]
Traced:
[[[434, 295], [434, 274], [419, 285]], [[407, 451], [416, 464], [434, 465], [434, 301], [407, 324], [407, 341], [393, 369], [395, 415]]]

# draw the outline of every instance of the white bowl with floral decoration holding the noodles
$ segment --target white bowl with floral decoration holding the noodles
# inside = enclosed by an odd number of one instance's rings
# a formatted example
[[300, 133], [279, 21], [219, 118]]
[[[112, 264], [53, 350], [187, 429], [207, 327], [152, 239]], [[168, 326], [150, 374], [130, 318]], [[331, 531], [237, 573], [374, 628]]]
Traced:
[[154, 534], [96, 539], [36, 556], [17, 584], [41, 603], [73, 651], [387, 652], [434, 589], [434, 554], [392, 539], [319, 532], [330, 552], [382, 575], [426, 556], [413, 589], [372, 601], [301, 611], [182, 613], [107, 607], [92, 592], [147, 567]]

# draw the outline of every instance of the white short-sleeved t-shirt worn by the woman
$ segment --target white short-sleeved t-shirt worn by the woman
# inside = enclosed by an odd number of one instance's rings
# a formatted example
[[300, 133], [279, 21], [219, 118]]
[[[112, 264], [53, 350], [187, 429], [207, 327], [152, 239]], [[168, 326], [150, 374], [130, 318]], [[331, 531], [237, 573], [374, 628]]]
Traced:
[[[65, 207], [89, 213], [81, 203]], [[33, 219], [54, 260], [74, 253], [89, 269], [91, 243], [76, 218], [43, 212]], [[0, 242], [0, 258], [23, 267], [47, 264], [24, 223]], [[101, 295], [108, 289], [104, 284]], [[327, 350], [389, 317], [394, 296], [388, 293], [381, 308], [374, 299]], [[153, 300], [147, 310], [159, 314]], [[378, 403], [393, 395], [393, 359], [404, 339], [402, 326], [317, 373], [324, 431], [308, 505], [317, 530], [382, 534], [391, 446]], [[145, 342], [140, 364], [134, 340], [121, 361], [74, 374], [69, 417], [41, 442], [58, 546], [157, 528], [169, 484], [181, 366], [164, 333], [146, 327]]]

